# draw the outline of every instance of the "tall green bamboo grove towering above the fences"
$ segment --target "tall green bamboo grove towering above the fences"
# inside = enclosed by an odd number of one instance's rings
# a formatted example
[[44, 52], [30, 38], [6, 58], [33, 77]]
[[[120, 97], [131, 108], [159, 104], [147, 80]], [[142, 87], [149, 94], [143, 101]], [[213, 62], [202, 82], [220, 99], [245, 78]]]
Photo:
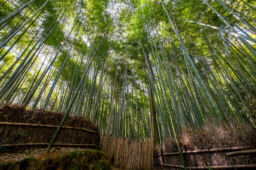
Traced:
[[10, 102], [156, 144], [255, 124], [256, 1], [0, 0], [0, 106]]

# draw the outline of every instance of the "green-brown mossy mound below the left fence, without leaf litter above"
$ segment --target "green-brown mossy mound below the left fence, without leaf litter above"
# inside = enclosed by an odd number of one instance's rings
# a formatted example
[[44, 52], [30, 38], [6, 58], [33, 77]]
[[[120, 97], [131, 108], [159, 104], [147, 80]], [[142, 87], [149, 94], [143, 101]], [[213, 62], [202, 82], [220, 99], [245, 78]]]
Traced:
[[58, 151], [27, 157], [21, 161], [0, 163], [0, 170], [110, 170], [106, 155], [99, 150], [74, 150], [64, 155]]

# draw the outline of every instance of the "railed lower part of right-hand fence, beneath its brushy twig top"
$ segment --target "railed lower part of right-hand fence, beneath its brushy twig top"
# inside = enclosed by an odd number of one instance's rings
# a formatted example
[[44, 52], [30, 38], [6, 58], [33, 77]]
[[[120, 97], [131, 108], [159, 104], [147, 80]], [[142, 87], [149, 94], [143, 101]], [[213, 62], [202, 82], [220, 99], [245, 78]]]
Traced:
[[[182, 152], [188, 169], [256, 169], [256, 149], [249, 147], [215, 148]], [[159, 148], [155, 167], [165, 170], [182, 170], [179, 152], [164, 153]]]

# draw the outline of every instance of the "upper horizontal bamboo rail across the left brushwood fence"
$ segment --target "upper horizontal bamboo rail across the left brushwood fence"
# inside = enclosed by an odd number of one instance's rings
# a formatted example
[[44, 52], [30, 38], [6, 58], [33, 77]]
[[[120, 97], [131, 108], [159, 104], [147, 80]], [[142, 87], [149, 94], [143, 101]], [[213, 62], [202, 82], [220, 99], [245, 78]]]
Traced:
[[[2, 122], [0, 121], [0, 125], [7, 125], [7, 126], [36, 126], [36, 127], [47, 127], [47, 128], [58, 128], [58, 126], [55, 125], [43, 125], [43, 124], [25, 124], [25, 123], [12, 123], [12, 122]], [[85, 129], [85, 128], [78, 128], [78, 127], [70, 127], [70, 126], [62, 126], [62, 128], [67, 129], [81, 129], [88, 132], [97, 133], [93, 130]]]

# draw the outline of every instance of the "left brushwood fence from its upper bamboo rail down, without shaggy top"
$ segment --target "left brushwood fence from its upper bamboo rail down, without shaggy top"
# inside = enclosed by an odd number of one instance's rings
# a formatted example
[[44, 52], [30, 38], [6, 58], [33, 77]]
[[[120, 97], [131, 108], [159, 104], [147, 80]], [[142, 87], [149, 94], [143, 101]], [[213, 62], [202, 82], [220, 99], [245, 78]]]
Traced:
[[[55, 125], [0, 122], [0, 152], [47, 147], [57, 128]], [[54, 146], [99, 149], [99, 141], [97, 131], [63, 126]]]

